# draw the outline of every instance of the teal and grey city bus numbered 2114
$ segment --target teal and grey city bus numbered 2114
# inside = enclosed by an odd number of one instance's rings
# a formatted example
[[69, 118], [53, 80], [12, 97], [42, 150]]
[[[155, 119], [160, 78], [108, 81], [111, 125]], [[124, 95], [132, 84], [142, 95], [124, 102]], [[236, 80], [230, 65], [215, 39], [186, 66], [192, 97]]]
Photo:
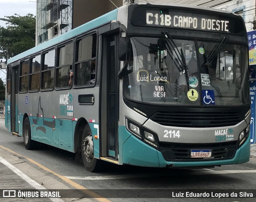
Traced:
[[250, 158], [247, 34], [230, 12], [125, 5], [12, 57], [6, 80], [8, 131], [91, 172]]

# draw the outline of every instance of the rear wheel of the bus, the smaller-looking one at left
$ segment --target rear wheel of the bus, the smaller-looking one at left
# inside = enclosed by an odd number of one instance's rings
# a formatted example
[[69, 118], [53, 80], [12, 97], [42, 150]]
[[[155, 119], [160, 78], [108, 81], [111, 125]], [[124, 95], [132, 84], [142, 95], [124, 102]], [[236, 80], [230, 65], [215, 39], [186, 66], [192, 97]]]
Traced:
[[22, 135], [25, 148], [28, 150], [35, 149], [35, 141], [31, 139], [31, 129], [28, 117], [26, 117], [24, 120], [22, 127]]

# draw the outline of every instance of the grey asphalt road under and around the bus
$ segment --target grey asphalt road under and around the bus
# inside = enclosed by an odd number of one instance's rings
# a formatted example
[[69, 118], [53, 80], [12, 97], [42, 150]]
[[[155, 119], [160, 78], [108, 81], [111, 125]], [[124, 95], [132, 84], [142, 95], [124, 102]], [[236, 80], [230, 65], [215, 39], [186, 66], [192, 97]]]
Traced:
[[[75, 162], [75, 154], [54, 147], [40, 150], [25, 149], [22, 137], [12, 136], [4, 127], [4, 119], [0, 119], [0, 145], [42, 164], [54, 172], [67, 176], [72, 181], [100, 192], [107, 190], [106, 196], [124, 196], [124, 201], [184, 201], [184, 198], [164, 198], [168, 192], [180, 190], [234, 190], [244, 192], [256, 189], [256, 157], [245, 164], [226, 165], [210, 169], [174, 170], [167, 168], [144, 168], [137, 166], [118, 166], [108, 164], [104, 171], [92, 173], [85, 170], [83, 164]], [[33, 165], [36, 169], [42, 169]], [[46, 174], [52, 175], [48, 172]], [[58, 188], [58, 187], [56, 187]], [[109, 190], [109, 189], [112, 189]], [[144, 190], [146, 189], [146, 190]], [[177, 190], [178, 192], [179, 190]], [[147, 197], [159, 198], [147, 198]], [[256, 196], [256, 193], [255, 193]], [[255, 197], [254, 196], [254, 197]], [[109, 198], [120, 201], [119, 198]], [[186, 201], [255, 201], [255, 198], [189, 198]]]

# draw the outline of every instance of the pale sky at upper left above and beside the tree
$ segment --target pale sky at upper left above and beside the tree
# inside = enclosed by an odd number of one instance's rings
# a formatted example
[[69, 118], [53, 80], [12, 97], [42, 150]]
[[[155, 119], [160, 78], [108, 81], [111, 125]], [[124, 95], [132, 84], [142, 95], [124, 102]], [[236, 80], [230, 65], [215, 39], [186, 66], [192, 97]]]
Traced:
[[[28, 13], [36, 15], [36, 0], [0, 0], [0, 18], [14, 14], [26, 16]], [[5, 22], [0, 20], [0, 26], [5, 27]], [[6, 71], [3, 71], [0, 71], [0, 77], [5, 82]]]

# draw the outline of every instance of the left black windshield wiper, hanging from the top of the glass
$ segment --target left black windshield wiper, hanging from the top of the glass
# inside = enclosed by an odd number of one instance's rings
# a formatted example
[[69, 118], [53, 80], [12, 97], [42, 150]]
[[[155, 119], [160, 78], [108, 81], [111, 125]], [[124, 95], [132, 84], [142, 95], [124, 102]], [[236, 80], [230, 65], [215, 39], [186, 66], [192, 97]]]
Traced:
[[[187, 84], [187, 87], [189, 89], [189, 83], [188, 83], [188, 66], [186, 65], [186, 59], [185, 59], [185, 56], [184, 56], [184, 53], [182, 51], [182, 49], [180, 49], [180, 51], [178, 50], [178, 47], [176, 46], [174, 40], [172, 39], [172, 37], [170, 36], [170, 34], [168, 32], [165, 32], [162, 31], [161, 32], [162, 35], [164, 35], [164, 37], [166, 38], [167, 42], [172, 46], [174, 52], [176, 53], [177, 57], [178, 57], [178, 60], [180, 61], [180, 68], [178, 67], [178, 65], [175, 63], [174, 59], [172, 58], [172, 60], [174, 61], [176, 67], [179, 69], [180, 71], [180, 75], [185, 73], [186, 75], [186, 84]], [[170, 49], [170, 47], [168, 47]], [[171, 49], [170, 49], [171, 50]], [[177, 51], [176, 51], [177, 50]], [[169, 53], [170, 54], [170, 53]], [[181, 58], [181, 60], [180, 60]]]

